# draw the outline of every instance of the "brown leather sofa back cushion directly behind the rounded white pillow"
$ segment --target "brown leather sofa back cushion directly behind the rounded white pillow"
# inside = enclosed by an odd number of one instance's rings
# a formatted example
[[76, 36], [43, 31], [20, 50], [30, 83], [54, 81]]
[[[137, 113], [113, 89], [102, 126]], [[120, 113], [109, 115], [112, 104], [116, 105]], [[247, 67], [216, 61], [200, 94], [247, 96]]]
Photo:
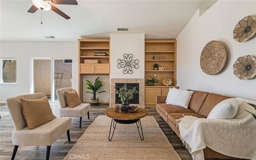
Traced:
[[232, 98], [232, 97], [223, 96], [220, 94], [209, 93], [204, 101], [203, 106], [199, 110], [198, 114], [200, 114], [204, 117], [207, 117], [214, 106], [216, 106], [222, 100], [226, 100], [228, 98]]

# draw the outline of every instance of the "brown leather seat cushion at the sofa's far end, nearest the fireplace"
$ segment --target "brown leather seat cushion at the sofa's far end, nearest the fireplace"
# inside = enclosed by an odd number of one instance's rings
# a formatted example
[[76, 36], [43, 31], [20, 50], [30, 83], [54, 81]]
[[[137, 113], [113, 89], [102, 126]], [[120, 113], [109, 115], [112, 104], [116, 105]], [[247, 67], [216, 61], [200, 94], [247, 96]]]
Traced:
[[157, 104], [156, 108], [158, 108], [166, 117], [168, 116], [169, 113], [195, 113], [188, 108], [165, 103]]

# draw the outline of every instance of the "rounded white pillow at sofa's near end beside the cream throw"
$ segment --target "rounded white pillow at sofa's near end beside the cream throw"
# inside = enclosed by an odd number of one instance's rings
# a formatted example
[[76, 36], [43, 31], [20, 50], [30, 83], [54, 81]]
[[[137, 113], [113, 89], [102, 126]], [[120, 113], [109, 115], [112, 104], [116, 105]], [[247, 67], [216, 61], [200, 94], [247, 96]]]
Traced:
[[235, 98], [222, 100], [212, 108], [207, 119], [232, 119], [236, 116], [238, 105], [238, 100]]

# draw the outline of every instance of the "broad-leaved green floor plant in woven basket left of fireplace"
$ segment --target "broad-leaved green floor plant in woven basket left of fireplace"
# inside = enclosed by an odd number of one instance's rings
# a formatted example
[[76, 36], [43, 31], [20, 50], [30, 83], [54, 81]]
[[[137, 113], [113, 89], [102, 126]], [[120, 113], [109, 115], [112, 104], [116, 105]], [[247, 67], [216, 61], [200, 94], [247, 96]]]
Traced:
[[86, 93], [92, 93], [91, 105], [92, 106], [98, 106], [99, 105], [99, 97], [96, 99], [96, 95], [98, 93], [106, 92], [106, 91], [98, 92], [100, 90], [100, 88], [103, 86], [103, 84], [102, 84], [103, 81], [100, 81], [99, 77], [97, 77], [95, 79], [94, 85], [90, 81], [88, 81], [88, 80], [86, 80], [84, 82], [89, 86], [89, 87], [86, 87], [86, 89], [92, 90], [92, 92], [86, 91]]

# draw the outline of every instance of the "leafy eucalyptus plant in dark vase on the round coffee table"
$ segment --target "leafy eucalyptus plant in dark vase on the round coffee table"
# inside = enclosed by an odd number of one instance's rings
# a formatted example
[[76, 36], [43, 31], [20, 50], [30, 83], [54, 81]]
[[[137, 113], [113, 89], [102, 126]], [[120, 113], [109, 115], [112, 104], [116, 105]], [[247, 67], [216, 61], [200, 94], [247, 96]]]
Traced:
[[126, 108], [130, 108], [130, 104], [128, 104], [128, 100], [132, 98], [133, 94], [139, 93], [139, 91], [137, 91], [135, 87], [133, 87], [132, 89], [127, 88], [126, 84], [124, 84], [124, 86], [119, 90], [116, 87], [114, 88], [116, 90], [116, 94], [118, 94], [118, 97], [120, 97], [123, 102], [122, 105]]

